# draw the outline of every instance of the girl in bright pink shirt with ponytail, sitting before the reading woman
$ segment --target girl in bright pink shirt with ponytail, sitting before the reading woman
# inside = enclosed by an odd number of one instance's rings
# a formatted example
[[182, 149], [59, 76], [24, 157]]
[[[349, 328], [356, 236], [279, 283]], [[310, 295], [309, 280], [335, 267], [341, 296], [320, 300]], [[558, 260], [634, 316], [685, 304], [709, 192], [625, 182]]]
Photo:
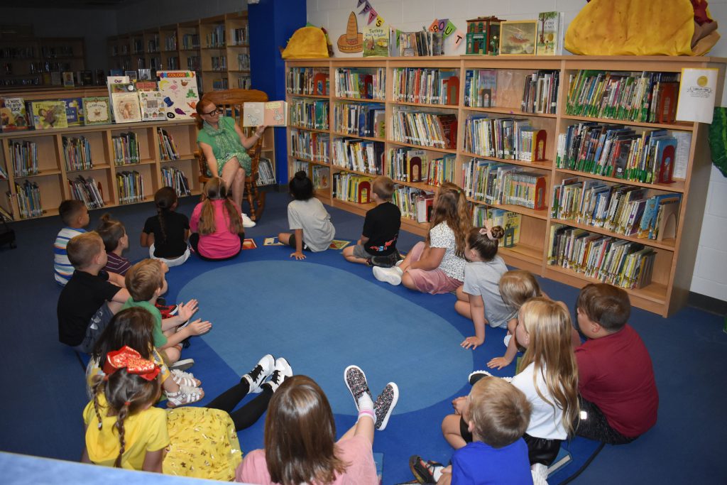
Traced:
[[239, 254], [245, 231], [240, 207], [231, 199], [225, 182], [218, 177], [204, 184], [204, 201], [197, 204], [190, 218], [189, 238], [194, 252], [203, 260], [227, 260]]

